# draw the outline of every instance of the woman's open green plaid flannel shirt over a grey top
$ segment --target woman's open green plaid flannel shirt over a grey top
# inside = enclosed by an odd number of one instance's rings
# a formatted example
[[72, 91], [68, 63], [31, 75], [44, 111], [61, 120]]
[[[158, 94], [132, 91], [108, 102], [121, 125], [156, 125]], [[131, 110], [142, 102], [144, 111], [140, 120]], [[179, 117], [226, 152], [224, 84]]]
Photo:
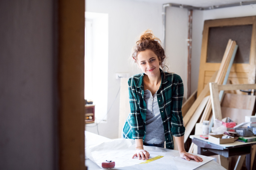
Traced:
[[[160, 69], [161, 85], [157, 91], [157, 102], [159, 105], [166, 148], [173, 149], [172, 136], [183, 136], [185, 127], [181, 114], [183, 100], [183, 82], [180, 76], [165, 72]], [[122, 136], [128, 139], [145, 139], [146, 135], [146, 111], [147, 105], [143, 99], [144, 85], [143, 74], [137, 74], [129, 78], [129, 101], [131, 113], [126, 119]]]

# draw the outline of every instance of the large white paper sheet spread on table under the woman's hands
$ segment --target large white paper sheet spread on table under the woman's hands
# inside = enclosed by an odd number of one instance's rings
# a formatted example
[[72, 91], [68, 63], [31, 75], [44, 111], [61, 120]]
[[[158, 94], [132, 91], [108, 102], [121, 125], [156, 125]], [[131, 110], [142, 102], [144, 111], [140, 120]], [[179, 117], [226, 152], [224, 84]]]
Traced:
[[[95, 138], [98, 138], [97, 142]], [[161, 170], [193, 170], [208, 161], [212, 157], [198, 155], [203, 158], [203, 162], [196, 162], [194, 160], [186, 161], [180, 158], [177, 150], [164, 149], [160, 147], [144, 146], [144, 149], [150, 153], [150, 158], [155, 156], [164, 156], [163, 158], [149, 162], [147, 164], [140, 164], [145, 161], [135, 157], [131, 157], [135, 152], [135, 141], [133, 139], [100, 139], [95, 134], [86, 133], [86, 156], [101, 167], [105, 160], [115, 161], [115, 168], [130, 167], [132, 169], [161, 169]], [[139, 165], [138, 165], [139, 164]], [[136, 166], [134, 166], [136, 165]]]

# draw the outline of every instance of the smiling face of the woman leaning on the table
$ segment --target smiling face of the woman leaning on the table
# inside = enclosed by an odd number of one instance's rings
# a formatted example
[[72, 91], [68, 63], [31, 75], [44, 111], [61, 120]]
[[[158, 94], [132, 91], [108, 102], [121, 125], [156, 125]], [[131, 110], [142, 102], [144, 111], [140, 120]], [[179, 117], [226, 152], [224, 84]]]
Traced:
[[137, 64], [146, 75], [154, 77], [159, 72], [159, 59], [152, 50], [140, 51], [137, 56]]

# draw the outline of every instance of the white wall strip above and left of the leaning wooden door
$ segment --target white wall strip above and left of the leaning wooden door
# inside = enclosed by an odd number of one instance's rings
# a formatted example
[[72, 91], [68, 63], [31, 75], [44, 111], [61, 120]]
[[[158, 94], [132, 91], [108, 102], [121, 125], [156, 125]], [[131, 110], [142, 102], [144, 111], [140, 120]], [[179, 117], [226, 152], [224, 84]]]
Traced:
[[256, 15], [256, 5], [236, 6], [230, 8], [212, 9], [206, 11], [194, 11], [192, 31], [192, 91], [198, 86], [198, 74], [200, 65], [202, 33], [204, 20], [221, 18], [247, 17]]

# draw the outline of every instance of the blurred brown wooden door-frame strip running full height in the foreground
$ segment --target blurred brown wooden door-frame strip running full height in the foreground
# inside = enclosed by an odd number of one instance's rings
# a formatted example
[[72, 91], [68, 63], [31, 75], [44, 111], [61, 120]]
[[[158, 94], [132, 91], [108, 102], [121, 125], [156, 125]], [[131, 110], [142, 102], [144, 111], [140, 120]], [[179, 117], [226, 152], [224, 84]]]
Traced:
[[85, 170], [83, 0], [58, 1], [59, 169]]

